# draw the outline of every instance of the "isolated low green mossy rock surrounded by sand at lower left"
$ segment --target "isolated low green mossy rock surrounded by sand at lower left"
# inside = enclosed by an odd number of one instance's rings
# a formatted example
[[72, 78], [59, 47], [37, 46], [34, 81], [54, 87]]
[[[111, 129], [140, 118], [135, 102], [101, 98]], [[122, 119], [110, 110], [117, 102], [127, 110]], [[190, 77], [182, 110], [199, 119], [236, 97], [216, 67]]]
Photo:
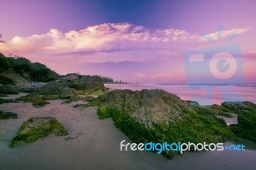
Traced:
[[21, 143], [33, 143], [37, 139], [54, 134], [56, 136], [68, 135], [67, 130], [53, 117], [30, 118], [22, 123], [20, 130], [13, 137], [10, 148], [14, 148]]

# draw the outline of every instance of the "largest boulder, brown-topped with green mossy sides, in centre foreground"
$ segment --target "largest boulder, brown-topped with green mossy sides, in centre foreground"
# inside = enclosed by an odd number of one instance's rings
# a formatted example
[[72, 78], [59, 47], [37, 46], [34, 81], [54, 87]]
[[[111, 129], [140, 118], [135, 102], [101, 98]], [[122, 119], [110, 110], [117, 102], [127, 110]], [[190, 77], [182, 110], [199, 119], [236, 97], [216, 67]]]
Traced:
[[[98, 106], [100, 119], [111, 117], [134, 143], [219, 143], [235, 137], [224, 120], [197, 112], [161, 89], [110, 91], [90, 105]], [[163, 151], [170, 158], [177, 153]]]

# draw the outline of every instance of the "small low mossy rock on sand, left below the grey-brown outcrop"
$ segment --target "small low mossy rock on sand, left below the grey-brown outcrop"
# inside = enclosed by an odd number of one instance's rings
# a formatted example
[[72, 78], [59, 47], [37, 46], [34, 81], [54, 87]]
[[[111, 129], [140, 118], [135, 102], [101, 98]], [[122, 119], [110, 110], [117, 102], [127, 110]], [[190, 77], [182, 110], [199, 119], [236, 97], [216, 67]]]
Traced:
[[16, 98], [17, 101], [23, 101], [23, 102], [31, 102], [33, 106], [35, 107], [44, 107], [45, 104], [50, 104], [49, 102], [45, 102], [42, 97], [39, 95], [27, 95], [26, 97], [19, 97]]

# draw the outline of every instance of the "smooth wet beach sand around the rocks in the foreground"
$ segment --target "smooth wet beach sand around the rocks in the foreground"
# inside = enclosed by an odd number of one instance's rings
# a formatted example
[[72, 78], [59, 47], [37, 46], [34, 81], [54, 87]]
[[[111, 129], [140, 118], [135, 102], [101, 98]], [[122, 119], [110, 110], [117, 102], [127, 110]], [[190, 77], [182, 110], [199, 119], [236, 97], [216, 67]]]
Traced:
[[[61, 105], [63, 101], [51, 100], [42, 108], [31, 103], [0, 105], [0, 110], [19, 117], [0, 120], [0, 169], [256, 169], [255, 150], [186, 152], [173, 160], [147, 151], [120, 151], [122, 140], [131, 141], [111, 118], [99, 120], [96, 107], [73, 108], [77, 103]], [[56, 118], [69, 135], [8, 148], [23, 121], [42, 116]]]

